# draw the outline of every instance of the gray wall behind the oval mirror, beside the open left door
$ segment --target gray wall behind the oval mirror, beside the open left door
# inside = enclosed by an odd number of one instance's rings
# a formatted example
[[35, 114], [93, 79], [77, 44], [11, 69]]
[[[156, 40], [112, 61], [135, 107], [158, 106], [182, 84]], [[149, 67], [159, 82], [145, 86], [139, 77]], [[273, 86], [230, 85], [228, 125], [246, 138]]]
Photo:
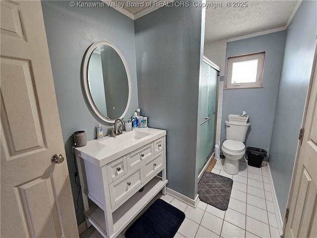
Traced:
[[[132, 98], [127, 115], [138, 108], [135, 38], [133, 20], [111, 7], [70, 7], [69, 1], [42, 1], [48, 38], [57, 105], [74, 202], [78, 186], [74, 183], [74, 158], [71, 151], [73, 132], [85, 130], [87, 140], [96, 138], [96, 126], [101, 122], [93, 115], [83, 94], [81, 64], [87, 48], [97, 40], [108, 40], [123, 54], [132, 81]], [[112, 126], [112, 125], [111, 125]], [[77, 178], [79, 180], [79, 178]], [[83, 206], [77, 212], [78, 224], [84, 221]]]

